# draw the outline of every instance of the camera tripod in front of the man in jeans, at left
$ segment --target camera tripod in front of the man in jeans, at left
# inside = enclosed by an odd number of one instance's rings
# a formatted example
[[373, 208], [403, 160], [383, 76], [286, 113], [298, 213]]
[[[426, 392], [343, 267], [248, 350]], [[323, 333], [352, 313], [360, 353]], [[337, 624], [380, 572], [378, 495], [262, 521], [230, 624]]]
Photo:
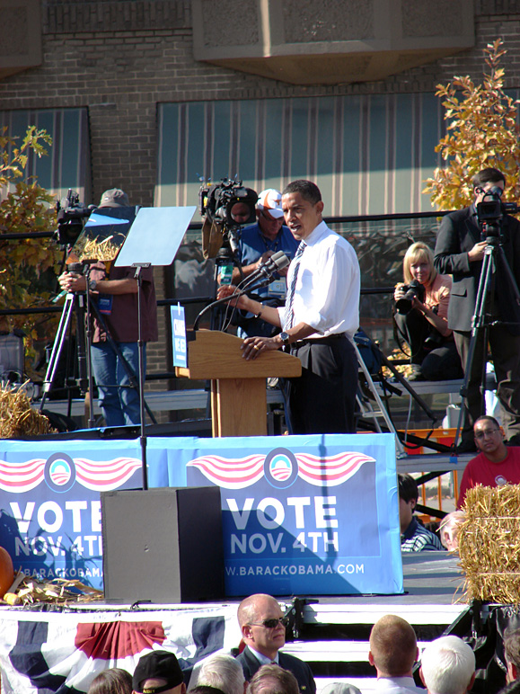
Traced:
[[[88, 278], [87, 278], [88, 281]], [[90, 414], [89, 414], [89, 420], [88, 420], [88, 427], [89, 429], [93, 429], [95, 426], [95, 420], [93, 417], [93, 370], [92, 370], [92, 360], [91, 360], [91, 352], [90, 352], [90, 347], [92, 344], [92, 334], [91, 334], [91, 321], [90, 321], [90, 315], [91, 311], [93, 311], [93, 314], [96, 316], [98, 321], [101, 324], [101, 328], [103, 331], [108, 335], [108, 342], [110, 343], [111, 349], [115, 351], [117, 354], [119, 360], [121, 361], [123, 368], [125, 369], [128, 380], [130, 382], [129, 387], [135, 388], [137, 390], [137, 393], [139, 392], [139, 384], [137, 380], [137, 375], [134, 373], [133, 369], [130, 367], [128, 364], [128, 361], [124, 358], [123, 354], [121, 353], [119, 349], [118, 343], [116, 343], [111, 337], [108, 332], [107, 326], [105, 325], [105, 322], [103, 320], [103, 316], [101, 316], [100, 311], [98, 310], [98, 307], [96, 306], [95, 303], [91, 302], [89, 300], [89, 295], [88, 292], [68, 292], [66, 294], [66, 300], [65, 304], [63, 307], [63, 311], [60, 317], [59, 325], [57, 328], [57, 334], [54, 339], [54, 343], [52, 346], [52, 351], [50, 353], [50, 357], [48, 360], [48, 368], [47, 372], [45, 375], [45, 379], [43, 382], [43, 387], [42, 387], [42, 392], [43, 395], [41, 397], [41, 403], [40, 403], [40, 411], [43, 410], [45, 406], [45, 401], [47, 398], [48, 392], [51, 390], [53, 384], [55, 383], [56, 380], [56, 375], [57, 375], [57, 368], [59, 364], [59, 360], [61, 358], [61, 355], [63, 353], [64, 345], [66, 342], [66, 334], [70, 332], [70, 328], [72, 326], [72, 316], [75, 315], [75, 326], [76, 326], [76, 352], [77, 352], [77, 366], [78, 366], [78, 378], [73, 378], [73, 383], [71, 384], [70, 378], [66, 377], [66, 386], [71, 386], [71, 385], [76, 385], [80, 388], [80, 391], [82, 395], [85, 395], [85, 393], [88, 391], [90, 394], [91, 398], [91, 405], [90, 405]], [[86, 330], [85, 330], [85, 324], [86, 324]], [[70, 359], [70, 354], [67, 355], [67, 366], [66, 366], [66, 373], [71, 372], [71, 359]], [[111, 384], [109, 384], [111, 385]], [[118, 384], [114, 384], [115, 387], [118, 387]], [[128, 387], [128, 386], [124, 386]], [[69, 408], [71, 405], [71, 397], [70, 397], [70, 390], [69, 390]], [[150, 410], [149, 406], [144, 403], [145, 405], [145, 410], [148, 413], [148, 416], [152, 420], [154, 424], [156, 424], [156, 420], [154, 417], [154, 414]]]

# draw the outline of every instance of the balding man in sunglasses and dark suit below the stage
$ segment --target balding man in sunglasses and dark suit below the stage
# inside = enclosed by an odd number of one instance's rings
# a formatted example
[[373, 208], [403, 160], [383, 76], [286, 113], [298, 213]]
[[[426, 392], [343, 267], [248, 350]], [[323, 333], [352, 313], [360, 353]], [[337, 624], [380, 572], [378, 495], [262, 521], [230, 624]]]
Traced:
[[301, 692], [315, 694], [316, 683], [309, 665], [294, 655], [279, 653], [286, 643], [287, 622], [278, 601], [263, 593], [250, 595], [238, 607], [238, 623], [246, 646], [237, 660], [247, 681], [261, 665], [277, 663], [295, 675]]

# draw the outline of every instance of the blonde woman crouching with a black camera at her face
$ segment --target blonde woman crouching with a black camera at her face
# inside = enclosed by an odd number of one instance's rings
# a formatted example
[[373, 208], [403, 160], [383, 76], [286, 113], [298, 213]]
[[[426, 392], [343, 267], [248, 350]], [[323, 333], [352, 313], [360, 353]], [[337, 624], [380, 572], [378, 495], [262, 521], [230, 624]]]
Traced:
[[393, 294], [395, 325], [410, 345], [409, 380], [463, 378], [447, 320], [452, 278], [438, 274], [433, 261], [426, 244], [410, 245], [402, 262], [405, 283], [396, 285]]

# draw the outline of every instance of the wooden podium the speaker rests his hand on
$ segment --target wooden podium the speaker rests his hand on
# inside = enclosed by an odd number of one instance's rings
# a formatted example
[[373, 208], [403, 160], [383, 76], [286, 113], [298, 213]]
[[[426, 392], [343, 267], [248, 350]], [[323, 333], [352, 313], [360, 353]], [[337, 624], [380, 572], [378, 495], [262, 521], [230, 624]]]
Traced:
[[211, 380], [213, 436], [267, 436], [266, 378], [301, 376], [301, 361], [283, 351], [246, 361], [243, 340], [217, 330], [198, 330], [188, 339], [188, 369], [175, 373]]

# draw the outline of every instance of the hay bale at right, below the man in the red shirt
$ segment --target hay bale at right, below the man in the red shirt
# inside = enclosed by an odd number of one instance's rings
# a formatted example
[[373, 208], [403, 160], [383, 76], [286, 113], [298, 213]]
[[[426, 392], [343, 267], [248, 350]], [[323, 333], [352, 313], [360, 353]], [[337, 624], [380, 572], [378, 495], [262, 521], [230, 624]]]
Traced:
[[459, 556], [467, 599], [520, 603], [520, 485], [473, 487], [463, 510]]

